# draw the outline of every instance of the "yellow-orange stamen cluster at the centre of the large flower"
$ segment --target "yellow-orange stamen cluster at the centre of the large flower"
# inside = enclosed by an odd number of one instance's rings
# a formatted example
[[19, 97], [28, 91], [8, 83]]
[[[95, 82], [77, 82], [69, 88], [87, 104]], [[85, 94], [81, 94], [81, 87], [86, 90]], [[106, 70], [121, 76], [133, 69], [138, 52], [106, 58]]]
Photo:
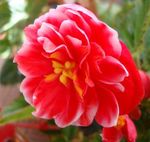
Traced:
[[65, 61], [61, 63], [61, 54], [59, 52], [51, 54], [50, 58], [52, 59], [53, 73], [45, 76], [46, 82], [51, 82], [55, 79], [59, 79], [64, 86], [68, 87], [70, 81], [72, 80], [74, 88], [79, 96], [83, 97], [84, 90], [81, 87], [81, 84], [78, 81], [78, 75], [75, 72], [76, 63], [73, 61]]

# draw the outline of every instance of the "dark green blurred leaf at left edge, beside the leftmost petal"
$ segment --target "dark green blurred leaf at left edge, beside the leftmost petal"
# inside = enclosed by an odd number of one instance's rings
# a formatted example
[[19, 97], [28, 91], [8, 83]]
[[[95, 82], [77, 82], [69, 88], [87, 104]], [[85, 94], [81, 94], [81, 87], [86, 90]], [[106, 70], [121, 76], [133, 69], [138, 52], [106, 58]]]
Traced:
[[7, 59], [2, 66], [0, 72], [0, 84], [14, 84], [22, 80], [21, 74], [19, 74], [17, 65], [13, 63], [13, 59]]

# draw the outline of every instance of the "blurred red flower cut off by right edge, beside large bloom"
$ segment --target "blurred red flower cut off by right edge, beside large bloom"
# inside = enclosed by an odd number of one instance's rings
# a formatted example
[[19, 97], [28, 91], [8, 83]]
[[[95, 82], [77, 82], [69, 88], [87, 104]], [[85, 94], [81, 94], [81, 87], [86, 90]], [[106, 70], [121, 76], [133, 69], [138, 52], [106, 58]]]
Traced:
[[139, 73], [145, 90], [144, 98], [148, 99], [150, 98], [150, 76], [144, 71], [139, 71]]

